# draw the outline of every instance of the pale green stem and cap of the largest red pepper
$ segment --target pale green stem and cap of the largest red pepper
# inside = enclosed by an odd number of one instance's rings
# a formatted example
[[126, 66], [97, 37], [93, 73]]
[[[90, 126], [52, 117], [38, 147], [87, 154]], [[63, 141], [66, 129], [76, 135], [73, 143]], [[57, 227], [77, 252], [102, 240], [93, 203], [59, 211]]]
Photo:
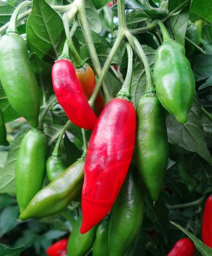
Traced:
[[117, 93], [117, 98], [125, 98], [126, 100], [131, 100], [131, 84], [132, 84], [132, 48], [129, 43], [126, 44], [127, 47], [127, 57], [128, 57], [128, 65], [127, 65], [127, 76], [125, 78], [125, 82], [121, 87], [121, 90]]

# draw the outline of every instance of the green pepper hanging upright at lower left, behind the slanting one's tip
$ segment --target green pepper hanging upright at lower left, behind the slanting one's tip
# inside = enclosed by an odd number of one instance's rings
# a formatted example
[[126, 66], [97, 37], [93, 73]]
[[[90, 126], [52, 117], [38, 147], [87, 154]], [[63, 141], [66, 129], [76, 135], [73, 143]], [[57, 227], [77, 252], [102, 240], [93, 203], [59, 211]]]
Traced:
[[17, 201], [20, 212], [42, 188], [46, 162], [46, 135], [30, 130], [21, 142], [15, 167]]

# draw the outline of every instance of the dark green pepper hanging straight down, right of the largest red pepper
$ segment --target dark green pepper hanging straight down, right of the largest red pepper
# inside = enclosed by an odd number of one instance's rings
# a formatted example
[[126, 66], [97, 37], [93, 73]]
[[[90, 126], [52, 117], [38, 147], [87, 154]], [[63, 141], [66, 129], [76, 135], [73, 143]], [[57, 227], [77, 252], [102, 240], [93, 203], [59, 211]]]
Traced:
[[136, 162], [146, 188], [156, 201], [168, 164], [168, 137], [166, 113], [154, 92], [140, 98], [136, 116]]

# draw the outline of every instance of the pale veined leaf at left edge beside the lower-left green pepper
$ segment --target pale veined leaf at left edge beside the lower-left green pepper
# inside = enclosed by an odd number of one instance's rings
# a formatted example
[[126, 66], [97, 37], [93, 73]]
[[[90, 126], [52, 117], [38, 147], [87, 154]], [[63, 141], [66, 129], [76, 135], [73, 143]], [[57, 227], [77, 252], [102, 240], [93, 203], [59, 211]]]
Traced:
[[15, 162], [23, 136], [28, 130], [23, 130], [11, 144], [5, 166], [0, 169], [0, 193], [15, 195]]

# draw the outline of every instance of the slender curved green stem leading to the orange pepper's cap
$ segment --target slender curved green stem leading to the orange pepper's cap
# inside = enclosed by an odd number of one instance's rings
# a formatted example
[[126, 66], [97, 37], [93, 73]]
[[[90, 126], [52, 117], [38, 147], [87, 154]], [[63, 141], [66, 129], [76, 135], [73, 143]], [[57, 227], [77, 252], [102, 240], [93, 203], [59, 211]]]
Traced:
[[74, 56], [75, 66], [76, 66], [76, 68], [81, 68], [81, 66], [83, 66], [84, 62], [81, 59], [81, 57], [79, 56], [79, 53], [76, 50], [74, 43], [72, 41], [72, 37], [70, 36], [70, 29], [69, 29], [69, 24], [68, 24], [68, 13], [64, 14], [62, 20], [64, 23], [64, 29], [66, 32], [67, 43], [68, 43], [68, 46], [70, 47], [70, 50], [72, 51], [72, 55]]

